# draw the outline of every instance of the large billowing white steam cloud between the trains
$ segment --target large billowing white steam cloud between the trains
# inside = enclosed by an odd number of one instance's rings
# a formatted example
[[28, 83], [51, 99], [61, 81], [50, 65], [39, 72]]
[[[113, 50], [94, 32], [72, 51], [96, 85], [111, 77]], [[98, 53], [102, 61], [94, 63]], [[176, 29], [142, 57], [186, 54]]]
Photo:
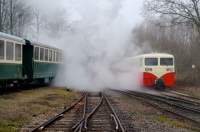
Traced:
[[74, 32], [62, 34], [58, 45], [53, 45], [65, 53], [65, 64], [56, 85], [82, 90], [134, 87], [136, 82], [130, 75], [116, 78], [111, 65], [141, 52], [135, 47], [132, 35], [137, 21], [133, 16], [135, 3], [134, 0], [62, 1], [70, 14], [68, 22], [77, 24]]

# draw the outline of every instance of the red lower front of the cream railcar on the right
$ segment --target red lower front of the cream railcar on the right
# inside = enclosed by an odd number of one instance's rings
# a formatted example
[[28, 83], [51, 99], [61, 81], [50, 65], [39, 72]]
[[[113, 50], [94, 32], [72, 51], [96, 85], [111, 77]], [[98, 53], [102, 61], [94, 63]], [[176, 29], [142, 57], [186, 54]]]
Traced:
[[[142, 86], [153, 86], [154, 80], [158, 78], [152, 73], [149, 72], [143, 72], [140, 80], [140, 84]], [[161, 76], [160, 78], [163, 78], [165, 80], [165, 86], [170, 87], [174, 86], [174, 72], [169, 72]]]

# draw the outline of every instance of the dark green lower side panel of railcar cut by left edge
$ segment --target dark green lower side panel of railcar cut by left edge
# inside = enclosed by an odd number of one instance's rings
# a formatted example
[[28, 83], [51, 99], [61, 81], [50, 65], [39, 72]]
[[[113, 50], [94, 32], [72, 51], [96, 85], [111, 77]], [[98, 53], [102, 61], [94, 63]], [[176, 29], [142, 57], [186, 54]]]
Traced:
[[22, 64], [0, 63], [0, 82], [22, 78]]

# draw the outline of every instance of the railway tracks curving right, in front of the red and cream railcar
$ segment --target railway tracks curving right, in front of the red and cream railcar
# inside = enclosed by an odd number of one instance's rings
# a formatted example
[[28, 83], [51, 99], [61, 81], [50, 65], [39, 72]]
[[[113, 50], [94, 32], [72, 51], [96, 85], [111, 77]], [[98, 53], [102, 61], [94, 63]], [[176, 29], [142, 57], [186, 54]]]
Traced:
[[179, 116], [181, 119], [189, 121], [191, 125], [194, 125], [198, 130], [200, 130], [200, 104], [197, 102], [136, 91], [118, 92], [148, 103], [162, 111]]

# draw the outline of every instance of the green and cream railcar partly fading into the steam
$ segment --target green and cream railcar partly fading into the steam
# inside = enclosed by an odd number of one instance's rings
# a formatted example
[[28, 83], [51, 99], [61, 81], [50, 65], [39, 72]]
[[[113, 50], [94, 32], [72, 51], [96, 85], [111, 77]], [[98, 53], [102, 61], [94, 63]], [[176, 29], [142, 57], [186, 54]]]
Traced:
[[23, 50], [23, 76], [29, 83], [49, 83], [62, 64], [62, 51], [26, 40]]

